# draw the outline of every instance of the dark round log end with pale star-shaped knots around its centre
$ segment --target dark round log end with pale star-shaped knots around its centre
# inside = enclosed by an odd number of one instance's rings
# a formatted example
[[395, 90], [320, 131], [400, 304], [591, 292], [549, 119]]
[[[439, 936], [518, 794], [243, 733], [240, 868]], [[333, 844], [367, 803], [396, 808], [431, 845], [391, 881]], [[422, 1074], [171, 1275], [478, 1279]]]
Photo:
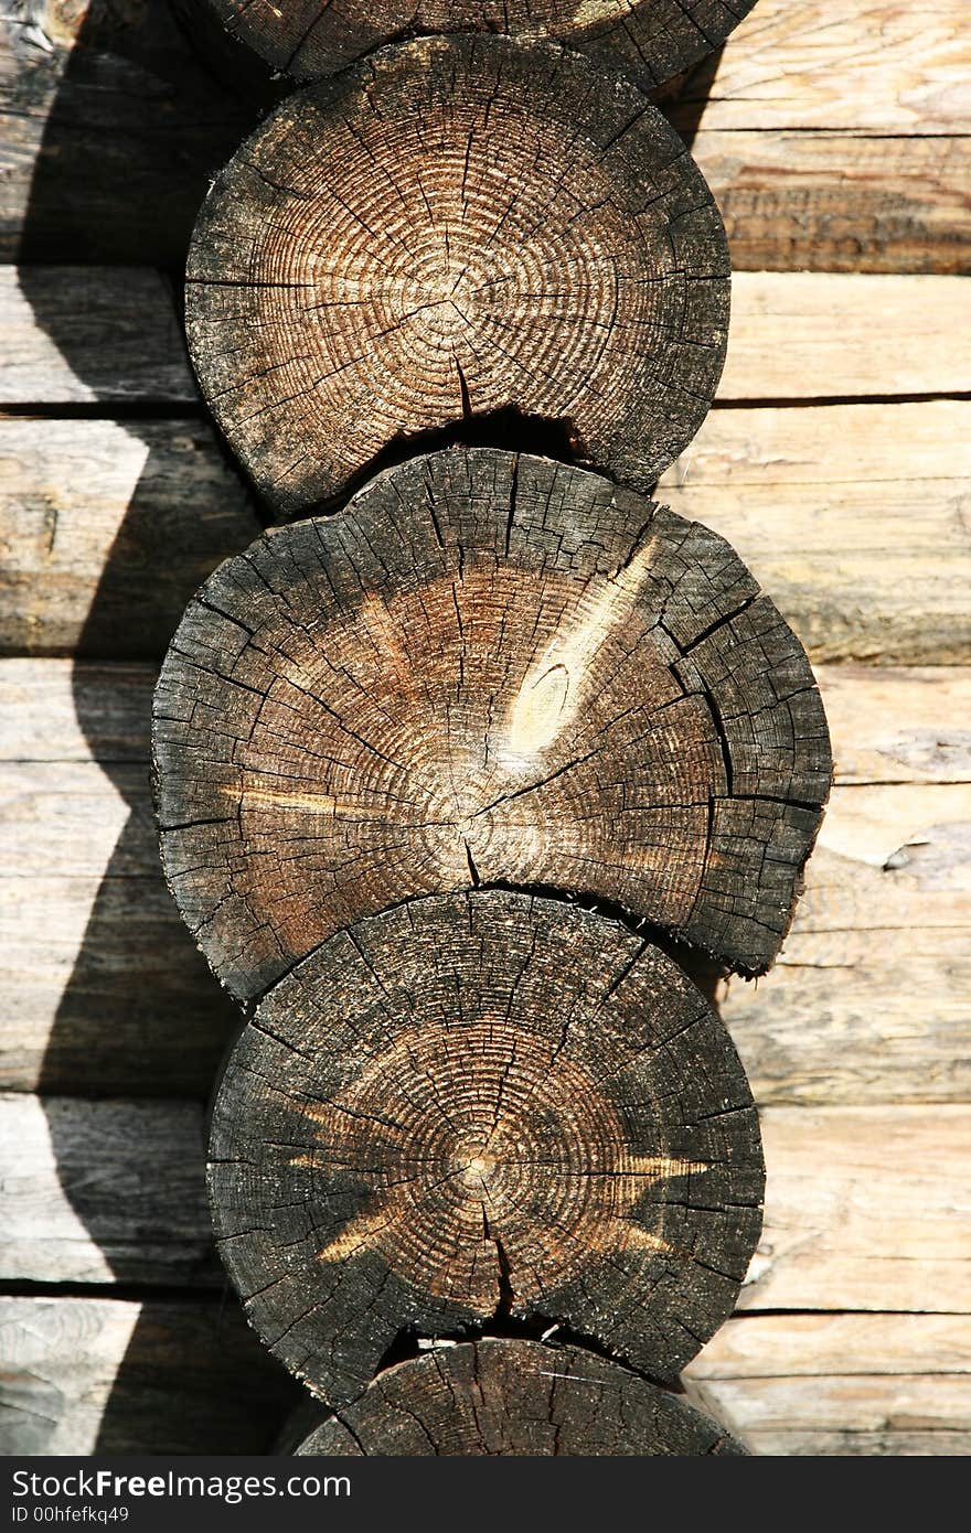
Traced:
[[503, 1314], [672, 1378], [735, 1305], [764, 1187], [738, 1056], [672, 960], [503, 891], [371, 917], [275, 986], [209, 1177], [250, 1321], [331, 1403], [402, 1331]]

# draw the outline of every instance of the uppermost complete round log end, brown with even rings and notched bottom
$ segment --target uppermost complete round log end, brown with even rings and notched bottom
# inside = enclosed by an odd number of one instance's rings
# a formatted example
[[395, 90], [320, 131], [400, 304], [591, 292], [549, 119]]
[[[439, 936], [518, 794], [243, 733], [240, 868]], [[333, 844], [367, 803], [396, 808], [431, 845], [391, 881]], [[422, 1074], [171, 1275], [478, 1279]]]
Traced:
[[287, 515], [509, 409], [650, 489], [707, 414], [727, 317], [721, 219], [664, 118], [497, 37], [290, 97], [213, 185], [186, 288], [202, 392]]

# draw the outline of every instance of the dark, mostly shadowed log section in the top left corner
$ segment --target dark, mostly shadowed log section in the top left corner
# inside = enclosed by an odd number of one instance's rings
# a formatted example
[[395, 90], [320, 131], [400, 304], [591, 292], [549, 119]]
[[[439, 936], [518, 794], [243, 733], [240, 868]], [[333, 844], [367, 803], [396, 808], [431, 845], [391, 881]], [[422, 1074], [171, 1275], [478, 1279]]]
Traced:
[[0, 28], [0, 259], [178, 270], [253, 109], [164, 0], [32, 0]]

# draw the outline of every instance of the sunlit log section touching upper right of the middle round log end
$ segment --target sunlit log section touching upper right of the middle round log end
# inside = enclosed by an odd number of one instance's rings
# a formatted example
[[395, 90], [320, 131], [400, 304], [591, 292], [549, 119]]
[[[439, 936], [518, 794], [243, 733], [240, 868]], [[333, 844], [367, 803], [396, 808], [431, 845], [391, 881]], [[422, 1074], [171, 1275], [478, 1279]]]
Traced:
[[726, 537], [815, 662], [966, 664], [971, 403], [712, 411], [658, 498]]

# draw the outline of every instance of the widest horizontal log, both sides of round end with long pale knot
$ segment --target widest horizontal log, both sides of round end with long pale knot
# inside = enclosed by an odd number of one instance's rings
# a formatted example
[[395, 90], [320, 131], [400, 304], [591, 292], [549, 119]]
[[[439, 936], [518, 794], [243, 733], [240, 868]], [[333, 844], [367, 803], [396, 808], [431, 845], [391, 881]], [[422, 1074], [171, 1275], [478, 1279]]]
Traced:
[[[724, 1016], [764, 1105], [966, 1101], [971, 670], [818, 676], [838, 786], [782, 957], [730, 984]], [[0, 878], [6, 1088], [202, 1096], [238, 1026], [155, 857], [153, 681], [0, 662], [0, 837], [20, 868]]]

